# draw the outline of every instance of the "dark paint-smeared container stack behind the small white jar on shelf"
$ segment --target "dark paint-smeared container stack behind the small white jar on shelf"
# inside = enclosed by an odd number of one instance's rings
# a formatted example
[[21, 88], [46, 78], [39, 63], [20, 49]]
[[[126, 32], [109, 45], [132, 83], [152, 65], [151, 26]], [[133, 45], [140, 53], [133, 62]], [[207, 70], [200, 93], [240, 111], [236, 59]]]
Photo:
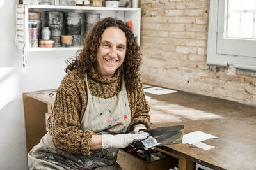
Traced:
[[61, 34], [64, 31], [64, 12], [63, 11], [45, 11], [46, 24], [51, 30], [51, 39], [54, 41], [54, 47], [61, 45]]

